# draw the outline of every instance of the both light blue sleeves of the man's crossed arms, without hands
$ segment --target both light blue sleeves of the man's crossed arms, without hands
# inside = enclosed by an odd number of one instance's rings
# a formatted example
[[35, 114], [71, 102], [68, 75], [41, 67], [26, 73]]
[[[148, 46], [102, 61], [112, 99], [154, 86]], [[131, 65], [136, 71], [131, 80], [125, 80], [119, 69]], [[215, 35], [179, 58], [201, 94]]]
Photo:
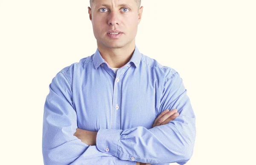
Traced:
[[[136, 162], [150, 164], [177, 162], [183, 165], [192, 156], [196, 133], [195, 116], [182, 79], [177, 72], [166, 83], [161, 103], [161, 112], [166, 109], [178, 110], [180, 115], [175, 120], [167, 124], [155, 125], [151, 129], [145, 127], [126, 130], [100, 129], [96, 134], [96, 145], [88, 145], [74, 135], [77, 118], [72, 106], [71, 91], [63, 90], [60, 84], [66, 86], [64, 89], [70, 89], [67, 79], [61, 72], [50, 84], [50, 92], [44, 107], [42, 143], [44, 164], [135, 165]], [[169, 89], [171, 86], [172, 90]], [[170, 100], [174, 101], [170, 102]], [[65, 105], [65, 108], [60, 108], [59, 104]], [[49, 130], [51, 133], [48, 133]], [[105, 144], [116, 148], [105, 151]]]

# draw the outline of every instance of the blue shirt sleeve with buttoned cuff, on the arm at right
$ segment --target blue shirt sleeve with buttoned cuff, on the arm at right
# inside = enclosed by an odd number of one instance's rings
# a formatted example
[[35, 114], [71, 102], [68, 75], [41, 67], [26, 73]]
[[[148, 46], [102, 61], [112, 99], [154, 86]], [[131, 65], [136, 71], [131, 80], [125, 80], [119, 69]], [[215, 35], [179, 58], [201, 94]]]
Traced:
[[[122, 160], [151, 164], [185, 164], [192, 156], [196, 135], [195, 114], [186, 92], [183, 80], [177, 72], [167, 74], [160, 113], [176, 108], [180, 115], [168, 124], [151, 129], [100, 129], [96, 137], [96, 147], [99, 151], [110, 153]], [[105, 151], [107, 147], [109, 150]]]

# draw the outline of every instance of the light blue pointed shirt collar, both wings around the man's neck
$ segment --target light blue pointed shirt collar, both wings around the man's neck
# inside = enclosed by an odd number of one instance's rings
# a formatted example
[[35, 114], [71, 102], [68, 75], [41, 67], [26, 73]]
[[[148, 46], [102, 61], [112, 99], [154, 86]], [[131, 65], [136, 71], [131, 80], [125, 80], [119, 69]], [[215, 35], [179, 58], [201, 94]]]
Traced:
[[[131, 57], [131, 60], [128, 62], [134, 63], [135, 67], [138, 67], [140, 65], [141, 60], [141, 54], [137, 46], [135, 45], [134, 53]], [[93, 55], [93, 64], [95, 69], [97, 69], [102, 63], [106, 63], [106, 61], [102, 58], [99, 49], [97, 48], [96, 52]]]

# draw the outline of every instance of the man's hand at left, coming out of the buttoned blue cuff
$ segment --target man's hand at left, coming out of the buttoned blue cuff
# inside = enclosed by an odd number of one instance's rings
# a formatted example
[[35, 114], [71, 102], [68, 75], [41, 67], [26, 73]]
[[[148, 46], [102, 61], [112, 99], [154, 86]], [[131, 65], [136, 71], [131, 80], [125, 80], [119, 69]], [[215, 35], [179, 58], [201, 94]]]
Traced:
[[96, 145], [97, 133], [98, 132], [92, 132], [89, 130], [82, 130], [76, 128], [76, 133], [74, 133], [74, 136], [76, 136], [78, 139], [80, 139], [87, 145]]

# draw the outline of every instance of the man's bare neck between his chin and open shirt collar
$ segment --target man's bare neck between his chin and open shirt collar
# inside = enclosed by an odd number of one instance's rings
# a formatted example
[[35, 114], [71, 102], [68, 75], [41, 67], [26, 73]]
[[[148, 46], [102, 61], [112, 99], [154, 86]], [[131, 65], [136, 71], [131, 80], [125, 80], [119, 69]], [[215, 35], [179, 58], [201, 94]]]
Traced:
[[102, 46], [98, 42], [97, 46], [102, 58], [107, 61], [111, 67], [120, 68], [130, 61], [135, 49], [135, 42], [120, 48]]

